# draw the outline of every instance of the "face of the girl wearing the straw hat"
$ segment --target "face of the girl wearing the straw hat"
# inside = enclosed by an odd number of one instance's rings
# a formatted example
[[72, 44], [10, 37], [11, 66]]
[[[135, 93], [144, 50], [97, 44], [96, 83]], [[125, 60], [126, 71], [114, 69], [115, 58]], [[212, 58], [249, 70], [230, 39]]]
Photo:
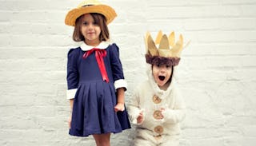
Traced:
[[90, 14], [84, 14], [82, 16], [81, 33], [85, 37], [87, 45], [98, 45], [100, 43], [99, 35], [101, 34], [101, 29], [94, 22], [94, 18]]

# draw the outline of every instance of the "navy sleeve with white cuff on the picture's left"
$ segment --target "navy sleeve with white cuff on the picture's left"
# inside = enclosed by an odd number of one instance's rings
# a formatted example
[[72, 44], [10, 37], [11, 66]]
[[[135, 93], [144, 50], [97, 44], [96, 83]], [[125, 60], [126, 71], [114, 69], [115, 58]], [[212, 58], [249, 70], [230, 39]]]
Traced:
[[75, 49], [70, 49], [67, 55], [67, 99], [73, 99], [78, 89], [78, 65], [77, 65], [77, 53]]

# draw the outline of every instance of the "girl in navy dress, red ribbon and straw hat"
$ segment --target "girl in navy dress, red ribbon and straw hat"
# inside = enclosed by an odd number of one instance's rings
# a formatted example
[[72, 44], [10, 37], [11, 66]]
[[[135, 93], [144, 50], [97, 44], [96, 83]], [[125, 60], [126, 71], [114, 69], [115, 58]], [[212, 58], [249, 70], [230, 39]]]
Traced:
[[118, 46], [107, 42], [107, 24], [115, 17], [110, 6], [90, 0], [70, 10], [65, 20], [66, 25], [74, 26], [74, 41], [83, 41], [68, 53], [70, 135], [93, 135], [98, 146], [110, 145], [110, 132], [130, 128]]

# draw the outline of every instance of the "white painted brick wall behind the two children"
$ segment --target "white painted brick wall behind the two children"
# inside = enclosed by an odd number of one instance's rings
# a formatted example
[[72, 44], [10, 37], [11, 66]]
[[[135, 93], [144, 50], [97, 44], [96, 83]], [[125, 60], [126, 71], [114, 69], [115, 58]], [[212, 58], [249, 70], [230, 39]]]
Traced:
[[[0, 145], [94, 145], [67, 134], [67, 10], [80, 0], [0, 0]], [[255, 0], [111, 0], [110, 34], [121, 51], [129, 99], [146, 78], [143, 36], [175, 30], [191, 40], [178, 81], [187, 105], [182, 146], [256, 143]], [[113, 135], [127, 146], [134, 129]]]

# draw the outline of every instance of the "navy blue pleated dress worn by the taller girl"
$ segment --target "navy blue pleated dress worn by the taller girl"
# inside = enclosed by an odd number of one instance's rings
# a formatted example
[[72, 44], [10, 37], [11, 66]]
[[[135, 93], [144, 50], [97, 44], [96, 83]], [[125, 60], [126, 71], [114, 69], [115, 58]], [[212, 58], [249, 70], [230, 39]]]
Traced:
[[82, 58], [86, 52], [80, 47], [70, 49], [67, 61], [68, 89], [77, 89], [74, 97], [70, 135], [89, 136], [108, 132], [122, 132], [130, 128], [126, 110], [114, 112], [117, 104], [114, 81], [124, 79], [118, 46], [109, 45], [103, 57], [109, 82], [102, 80], [95, 52]]

